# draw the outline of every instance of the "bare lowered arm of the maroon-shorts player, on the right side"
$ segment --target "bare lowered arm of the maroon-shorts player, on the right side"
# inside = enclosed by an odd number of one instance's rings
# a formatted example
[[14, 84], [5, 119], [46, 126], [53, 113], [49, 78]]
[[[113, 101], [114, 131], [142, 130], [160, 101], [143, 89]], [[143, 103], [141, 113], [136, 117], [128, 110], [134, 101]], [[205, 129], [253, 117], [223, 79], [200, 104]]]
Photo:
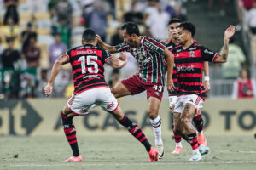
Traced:
[[163, 52], [162, 55], [166, 57], [166, 61], [167, 61], [167, 78], [166, 78], [167, 90], [172, 91], [174, 89], [174, 84], [172, 81], [174, 56], [167, 48], [165, 48], [165, 51]]

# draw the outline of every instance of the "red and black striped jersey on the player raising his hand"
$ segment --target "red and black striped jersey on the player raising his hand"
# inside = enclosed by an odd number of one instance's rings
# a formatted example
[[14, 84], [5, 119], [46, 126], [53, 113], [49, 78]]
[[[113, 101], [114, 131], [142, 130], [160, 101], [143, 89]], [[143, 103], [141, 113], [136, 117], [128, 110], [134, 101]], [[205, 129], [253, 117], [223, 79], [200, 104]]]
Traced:
[[194, 42], [189, 48], [182, 46], [173, 48], [175, 65], [177, 69], [178, 90], [177, 95], [197, 94], [202, 97], [202, 71], [204, 61], [215, 62], [218, 53]]

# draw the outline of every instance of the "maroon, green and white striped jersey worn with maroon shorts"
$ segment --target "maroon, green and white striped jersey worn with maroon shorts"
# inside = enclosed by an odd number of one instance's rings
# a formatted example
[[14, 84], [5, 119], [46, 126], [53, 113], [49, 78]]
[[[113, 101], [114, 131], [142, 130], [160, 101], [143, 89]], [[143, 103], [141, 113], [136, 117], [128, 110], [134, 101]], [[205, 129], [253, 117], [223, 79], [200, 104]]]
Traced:
[[139, 72], [137, 76], [148, 84], [165, 85], [164, 62], [162, 53], [165, 51], [166, 44], [154, 38], [142, 36], [140, 47], [134, 48], [127, 43], [121, 43], [115, 48], [121, 51], [130, 52], [137, 60]]

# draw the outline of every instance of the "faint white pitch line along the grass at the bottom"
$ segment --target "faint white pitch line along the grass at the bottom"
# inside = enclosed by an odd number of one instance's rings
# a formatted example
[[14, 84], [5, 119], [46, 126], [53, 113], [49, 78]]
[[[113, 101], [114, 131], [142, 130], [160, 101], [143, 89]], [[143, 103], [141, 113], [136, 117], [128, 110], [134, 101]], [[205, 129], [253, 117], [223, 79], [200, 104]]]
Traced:
[[[256, 161], [199, 161], [199, 162], [154, 162], [154, 163], [78, 163], [77, 165], [82, 165], [84, 167], [96, 167], [96, 166], [160, 166], [160, 165], [198, 165], [198, 164], [246, 164], [246, 163], [256, 163]], [[58, 164], [15, 164], [15, 165], [9, 165], [10, 167], [52, 167], [52, 166], [73, 166], [73, 163], [58, 163]]]

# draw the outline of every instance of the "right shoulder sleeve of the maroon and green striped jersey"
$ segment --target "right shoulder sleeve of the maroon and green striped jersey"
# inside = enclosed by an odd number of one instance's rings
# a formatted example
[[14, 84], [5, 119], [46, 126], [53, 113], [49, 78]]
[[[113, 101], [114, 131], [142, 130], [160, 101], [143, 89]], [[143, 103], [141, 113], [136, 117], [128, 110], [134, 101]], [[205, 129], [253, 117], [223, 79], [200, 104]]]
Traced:
[[144, 45], [153, 50], [156, 53], [162, 54], [165, 51], [166, 44], [163, 42], [159, 42], [153, 38], [147, 38], [144, 40]]

